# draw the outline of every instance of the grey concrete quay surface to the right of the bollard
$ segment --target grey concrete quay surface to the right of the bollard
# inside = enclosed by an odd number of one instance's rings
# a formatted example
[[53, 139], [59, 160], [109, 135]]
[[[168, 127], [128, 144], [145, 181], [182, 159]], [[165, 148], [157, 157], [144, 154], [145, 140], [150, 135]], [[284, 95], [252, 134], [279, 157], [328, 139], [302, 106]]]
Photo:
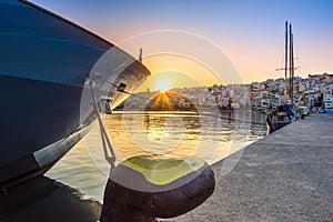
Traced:
[[215, 191], [168, 221], [333, 221], [333, 115], [306, 117], [213, 165]]

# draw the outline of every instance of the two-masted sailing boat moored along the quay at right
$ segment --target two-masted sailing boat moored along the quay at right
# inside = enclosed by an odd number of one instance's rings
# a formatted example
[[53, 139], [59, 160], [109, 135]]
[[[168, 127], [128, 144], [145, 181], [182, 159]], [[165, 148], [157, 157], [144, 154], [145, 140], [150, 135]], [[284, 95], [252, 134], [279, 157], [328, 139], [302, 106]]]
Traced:
[[[284, 97], [283, 105], [278, 107], [276, 110], [270, 110], [266, 117], [266, 123], [269, 125], [270, 132], [279, 130], [284, 125], [291, 123], [294, 113], [291, 110], [294, 103], [294, 49], [293, 49], [293, 33], [292, 24], [285, 21], [285, 54], [284, 54], [284, 68], [276, 69], [284, 70]], [[289, 78], [287, 78], [289, 74]], [[289, 85], [287, 85], [289, 80]]]

